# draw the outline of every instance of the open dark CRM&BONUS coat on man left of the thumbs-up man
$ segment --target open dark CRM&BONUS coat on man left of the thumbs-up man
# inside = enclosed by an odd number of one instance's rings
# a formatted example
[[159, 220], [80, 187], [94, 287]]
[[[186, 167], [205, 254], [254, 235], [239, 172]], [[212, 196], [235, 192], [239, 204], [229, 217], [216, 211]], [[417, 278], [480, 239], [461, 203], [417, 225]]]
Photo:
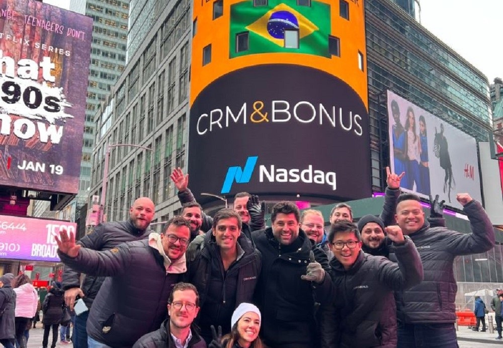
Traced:
[[[234, 309], [242, 302], [253, 301], [262, 267], [261, 255], [243, 234], [238, 237], [237, 243], [243, 254], [238, 256], [226, 272], [223, 270], [219, 248], [211, 231], [205, 234], [198, 249], [191, 248], [187, 251], [187, 272], [184, 274], [184, 281], [194, 284], [199, 292], [201, 311], [198, 323], [205, 337], [211, 337], [211, 329], [209, 325], [203, 326], [201, 313], [206, 313], [204, 322], [221, 325], [222, 333], [225, 334], [230, 332], [230, 319]], [[229, 284], [229, 279], [237, 282]], [[209, 293], [222, 294], [222, 298], [212, 299], [211, 307], [205, 307]], [[228, 303], [233, 298], [234, 303]]]

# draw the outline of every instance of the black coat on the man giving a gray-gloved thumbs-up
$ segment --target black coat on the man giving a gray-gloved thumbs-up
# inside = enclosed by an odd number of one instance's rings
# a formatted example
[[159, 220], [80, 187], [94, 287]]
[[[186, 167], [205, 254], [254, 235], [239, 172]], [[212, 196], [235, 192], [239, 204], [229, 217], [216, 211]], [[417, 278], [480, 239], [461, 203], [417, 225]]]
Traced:
[[[253, 233], [262, 253], [262, 271], [255, 291], [255, 303], [262, 313], [261, 337], [267, 346], [311, 347], [317, 331], [315, 302], [322, 305], [332, 297], [328, 259], [313, 247], [304, 231], [290, 245], [280, 245], [272, 228]], [[323, 283], [303, 281], [307, 265], [314, 259], [325, 265]]]

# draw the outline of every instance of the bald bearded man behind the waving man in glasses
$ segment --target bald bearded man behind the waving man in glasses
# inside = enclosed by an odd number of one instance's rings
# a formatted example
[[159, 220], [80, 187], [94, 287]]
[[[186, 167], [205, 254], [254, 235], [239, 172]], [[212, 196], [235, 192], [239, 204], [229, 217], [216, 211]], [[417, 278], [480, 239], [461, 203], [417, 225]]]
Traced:
[[[141, 240], [152, 232], [148, 226], [155, 213], [155, 205], [148, 197], [136, 199], [129, 209], [129, 219], [123, 222], [106, 222], [95, 227], [94, 231], [81, 238], [77, 244], [97, 251], [113, 249], [121, 243]], [[73, 309], [77, 297], [83, 299], [88, 308], [101, 288], [105, 277], [86, 276], [80, 288], [80, 272], [68, 266], [63, 268], [63, 290], [66, 305]], [[73, 336], [74, 348], [87, 348], [88, 335], [86, 323], [89, 311], [75, 317], [75, 331]]]

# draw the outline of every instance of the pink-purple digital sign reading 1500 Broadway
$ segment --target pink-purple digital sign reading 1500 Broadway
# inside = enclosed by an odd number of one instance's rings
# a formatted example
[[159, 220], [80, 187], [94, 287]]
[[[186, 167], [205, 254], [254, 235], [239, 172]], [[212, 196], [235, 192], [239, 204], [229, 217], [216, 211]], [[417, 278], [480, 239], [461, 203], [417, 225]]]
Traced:
[[54, 236], [62, 228], [75, 234], [77, 224], [0, 215], [0, 258], [59, 262]]

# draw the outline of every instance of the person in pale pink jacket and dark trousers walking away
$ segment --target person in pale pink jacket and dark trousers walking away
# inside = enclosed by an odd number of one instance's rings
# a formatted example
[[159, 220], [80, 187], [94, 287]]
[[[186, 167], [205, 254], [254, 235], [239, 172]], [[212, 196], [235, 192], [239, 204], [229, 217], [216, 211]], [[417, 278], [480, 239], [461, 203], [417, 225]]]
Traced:
[[12, 285], [16, 293], [16, 342], [21, 348], [26, 348], [28, 338], [25, 331], [31, 327], [30, 320], [37, 311], [37, 291], [25, 274], [15, 277]]

